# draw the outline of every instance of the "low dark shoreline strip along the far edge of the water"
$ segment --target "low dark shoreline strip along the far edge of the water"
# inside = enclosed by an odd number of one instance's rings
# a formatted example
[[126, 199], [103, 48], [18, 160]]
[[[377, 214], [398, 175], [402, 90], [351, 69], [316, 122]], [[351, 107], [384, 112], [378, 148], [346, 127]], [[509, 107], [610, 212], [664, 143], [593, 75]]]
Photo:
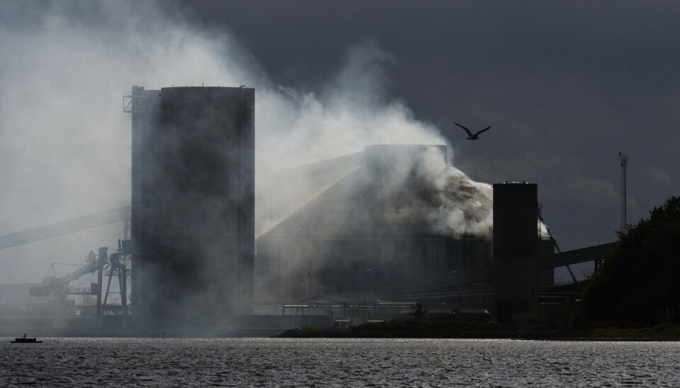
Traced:
[[113, 329], [113, 328], [0, 328], [0, 338], [28, 333], [40, 338], [459, 338], [526, 341], [680, 341], [680, 324], [621, 327], [591, 325], [577, 330], [566, 324], [499, 325], [491, 322], [386, 321], [347, 328], [295, 329]]

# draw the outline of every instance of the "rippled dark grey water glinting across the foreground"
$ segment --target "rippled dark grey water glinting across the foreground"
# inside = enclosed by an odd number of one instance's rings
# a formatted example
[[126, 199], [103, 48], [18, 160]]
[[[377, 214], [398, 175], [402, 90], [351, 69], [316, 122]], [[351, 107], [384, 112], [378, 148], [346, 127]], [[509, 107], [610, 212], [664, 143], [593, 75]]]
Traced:
[[0, 341], [0, 387], [680, 387], [680, 343], [461, 339]]

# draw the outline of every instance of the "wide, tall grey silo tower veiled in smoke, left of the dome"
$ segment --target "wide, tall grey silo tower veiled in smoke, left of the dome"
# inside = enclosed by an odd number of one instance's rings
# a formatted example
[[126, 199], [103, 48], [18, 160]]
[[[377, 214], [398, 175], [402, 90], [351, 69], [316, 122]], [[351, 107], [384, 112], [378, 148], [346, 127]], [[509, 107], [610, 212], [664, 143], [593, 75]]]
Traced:
[[251, 305], [254, 89], [132, 87], [138, 324], [215, 328]]

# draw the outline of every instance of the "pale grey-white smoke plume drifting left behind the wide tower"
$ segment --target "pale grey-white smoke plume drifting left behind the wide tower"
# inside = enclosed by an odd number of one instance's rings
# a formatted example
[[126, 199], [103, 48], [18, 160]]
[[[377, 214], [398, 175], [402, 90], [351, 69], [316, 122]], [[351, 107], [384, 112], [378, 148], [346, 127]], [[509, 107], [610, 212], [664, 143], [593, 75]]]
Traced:
[[[387, 98], [381, 67], [390, 56], [377, 45], [348, 48], [335, 76], [299, 91], [273, 84], [237, 38], [197, 29], [179, 14], [151, 1], [0, 4], [0, 234], [130, 203], [122, 97], [133, 84], [256, 89], [258, 232], [278, 221], [261, 211], [271, 188], [264, 179], [274, 171], [367, 144], [445, 143], [436, 127]], [[443, 159], [426, 161], [421, 173], [440, 164], [438, 171], [463, 176]], [[449, 200], [447, 183], [433, 184]], [[289, 194], [318, 190], [300, 183]], [[51, 262], [80, 263], [98, 246], [113, 249], [122, 232], [113, 225], [0, 251], [0, 283], [40, 281]]]

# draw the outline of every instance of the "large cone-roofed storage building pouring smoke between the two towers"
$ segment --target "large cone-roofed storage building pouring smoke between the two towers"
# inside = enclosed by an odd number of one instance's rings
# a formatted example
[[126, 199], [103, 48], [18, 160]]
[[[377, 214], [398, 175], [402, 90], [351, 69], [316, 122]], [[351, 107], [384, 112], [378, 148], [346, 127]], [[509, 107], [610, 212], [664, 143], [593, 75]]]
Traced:
[[[446, 146], [366, 147], [361, 167], [259, 237], [256, 302], [305, 299], [310, 282], [314, 295], [416, 297], [433, 292], [427, 279], [488, 268], [488, 238], [447, 234], [429, 217], [443, 193], [419, 179], [414, 159], [432, 147], [446, 160]], [[491, 210], [474, 187], [450, 195]]]

